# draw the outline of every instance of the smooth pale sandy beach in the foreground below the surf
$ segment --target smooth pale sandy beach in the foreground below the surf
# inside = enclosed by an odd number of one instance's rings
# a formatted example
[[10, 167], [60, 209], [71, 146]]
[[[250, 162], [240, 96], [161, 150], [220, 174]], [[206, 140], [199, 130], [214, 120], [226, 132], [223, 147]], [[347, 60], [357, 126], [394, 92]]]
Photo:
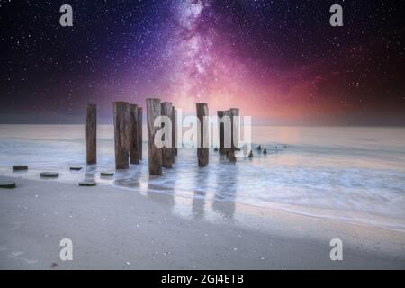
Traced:
[[[405, 268], [401, 231], [249, 206], [231, 220], [182, 217], [170, 194], [7, 179], [17, 188], [0, 190], [1, 269]], [[59, 259], [62, 238], [72, 261]], [[330, 260], [332, 238], [343, 261]]]

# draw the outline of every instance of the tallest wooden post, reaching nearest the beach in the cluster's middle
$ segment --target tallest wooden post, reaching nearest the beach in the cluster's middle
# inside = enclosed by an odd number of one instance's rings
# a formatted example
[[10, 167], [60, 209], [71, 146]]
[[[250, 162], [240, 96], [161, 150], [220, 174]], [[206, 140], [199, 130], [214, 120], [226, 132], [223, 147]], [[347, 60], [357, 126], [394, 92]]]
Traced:
[[154, 127], [154, 121], [160, 116], [160, 100], [147, 99], [147, 118], [148, 118], [148, 164], [149, 175], [162, 175], [162, 149], [155, 145], [155, 135], [159, 130]]

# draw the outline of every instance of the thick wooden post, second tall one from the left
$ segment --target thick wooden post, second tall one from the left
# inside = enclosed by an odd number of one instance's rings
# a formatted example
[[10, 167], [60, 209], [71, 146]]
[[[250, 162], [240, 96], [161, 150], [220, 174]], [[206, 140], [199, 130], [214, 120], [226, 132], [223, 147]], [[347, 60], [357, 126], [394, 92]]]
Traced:
[[115, 139], [115, 168], [128, 169], [129, 161], [129, 131], [130, 131], [130, 103], [114, 102], [114, 139]]

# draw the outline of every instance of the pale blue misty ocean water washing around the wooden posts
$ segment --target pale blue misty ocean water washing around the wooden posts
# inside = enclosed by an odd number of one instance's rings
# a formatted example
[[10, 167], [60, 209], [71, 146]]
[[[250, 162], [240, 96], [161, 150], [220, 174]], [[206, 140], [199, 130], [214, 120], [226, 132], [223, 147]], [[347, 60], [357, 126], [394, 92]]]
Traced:
[[[209, 166], [200, 168], [195, 149], [179, 148], [175, 167], [160, 177], [148, 176], [145, 141], [139, 166], [101, 177], [114, 171], [112, 126], [99, 126], [97, 137], [98, 164], [85, 166], [84, 125], [0, 125], [0, 175], [40, 180], [40, 172], [56, 171], [57, 180], [41, 181], [95, 179], [129, 193], [209, 201], [224, 218], [240, 203], [405, 230], [404, 128], [256, 126], [253, 159], [232, 164], [211, 149]], [[257, 151], [259, 144], [267, 155]], [[30, 169], [15, 173], [13, 165]], [[84, 169], [71, 172], [70, 166]], [[221, 210], [223, 204], [235, 211]], [[189, 213], [199, 209], [191, 202]]]

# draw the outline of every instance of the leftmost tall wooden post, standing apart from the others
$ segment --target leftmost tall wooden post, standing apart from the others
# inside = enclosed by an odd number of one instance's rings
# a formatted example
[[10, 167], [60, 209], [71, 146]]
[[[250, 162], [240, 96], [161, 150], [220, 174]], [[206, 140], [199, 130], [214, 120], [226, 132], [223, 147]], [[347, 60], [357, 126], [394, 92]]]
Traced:
[[85, 118], [86, 160], [87, 164], [97, 163], [97, 105], [87, 105]]

